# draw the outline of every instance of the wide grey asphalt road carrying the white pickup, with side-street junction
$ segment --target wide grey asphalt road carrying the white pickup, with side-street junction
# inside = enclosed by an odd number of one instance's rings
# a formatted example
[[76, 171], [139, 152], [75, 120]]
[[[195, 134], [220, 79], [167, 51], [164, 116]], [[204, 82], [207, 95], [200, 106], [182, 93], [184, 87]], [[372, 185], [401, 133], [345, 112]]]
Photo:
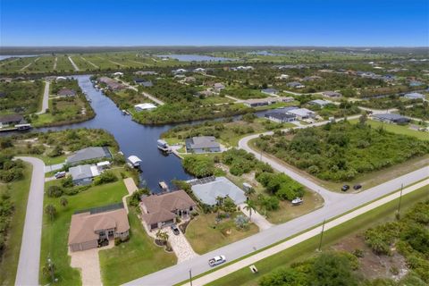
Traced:
[[[278, 166], [276, 166], [275, 162], [269, 158], [265, 158], [263, 156], [263, 160], [273, 164], [273, 167], [277, 169]], [[290, 174], [290, 170], [287, 169], [282, 170], [282, 168], [280, 168], [280, 171]], [[230, 261], [244, 257], [257, 249], [265, 248], [277, 241], [287, 239], [294, 234], [312, 228], [316, 224], [323, 223], [324, 219], [331, 219], [337, 215], [348, 212], [357, 206], [364, 205], [376, 198], [381, 198], [394, 190], [400, 189], [401, 184], [407, 186], [415, 183], [416, 181], [421, 181], [428, 176], [429, 166], [426, 166], [416, 170], [415, 172], [409, 172], [406, 175], [400, 176], [391, 181], [386, 181], [383, 184], [371, 189], [366, 189], [365, 191], [357, 194], [333, 193], [329, 190], [317, 187], [316, 185], [312, 185], [314, 184], [313, 182], [307, 181], [305, 177], [301, 177], [299, 178], [299, 181], [306, 182], [307, 186], [313, 187], [311, 189], [320, 190], [320, 194], [325, 199], [324, 207], [319, 208], [312, 213], [302, 215], [290, 222], [275, 225], [265, 231], [258, 232], [244, 240], [231, 243], [223, 248], [218, 248], [206, 253], [205, 255], [195, 257], [181, 264], [173, 265], [156, 273], [151, 273], [132, 282], [128, 282], [125, 285], [172, 285], [185, 281], [189, 279], [190, 269], [194, 276], [210, 270], [211, 267], [207, 265], [207, 261], [211, 257], [225, 255]]]

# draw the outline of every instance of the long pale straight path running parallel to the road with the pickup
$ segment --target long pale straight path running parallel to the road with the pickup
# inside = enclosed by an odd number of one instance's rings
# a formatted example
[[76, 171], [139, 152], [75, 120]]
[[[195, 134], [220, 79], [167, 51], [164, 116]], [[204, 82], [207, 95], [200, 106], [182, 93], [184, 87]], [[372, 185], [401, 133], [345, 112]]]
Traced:
[[[418, 182], [413, 186], [410, 186], [406, 189], [403, 189], [402, 194], [406, 195], [408, 193], [415, 191], [416, 189], [420, 189], [420, 188], [424, 187], [427, 184], [429, 184], [429, 180]], [[400, 198], [400, 191], [397, 191], [397, 192], [395, 192], [395, 193], [393, 193], [387, 197], [380, 198], [380, 199], [374, 201], [373, 203], [371, 203], [369, 205], [362, 206], [362, 207], [358, 208], [357, 210], [350, 212], [349, 214], [341, 215], [339, 218], [334, 219], [329, 223], [325, 223], [324, 231], [332, 229], [333, 227], [340, 225], [341, 223], [346, 223], [349, 220], [357, 217], [358, 215], [365, 214], [366, 212], [373, 210], [374, 208], [376, 208], [378, 206], [383, 206], [384, 204], [386, 204], [386, 203], [388, 203], [388, 202], [390, 202], [396, 198]], [[308, 240], [312, 237], [315, 237], [316, 235], [320, 235], [321, 231], [322, 231], [322, 226], [316, 227], [313, 230], [310, 230], [310, 231], [307, 231], [303, 234], [300, 234], [299, 236], [297, 236], [293, 239], [286, 240], [286, 241], [282, 242], [281, 244], [274, 246], [273, 248], [268, 248], [268, 249], [261, 251], [261, 252], [255, 254], [251, 257], [242, 259], [237, 263], [223, 267], [217, 271], [214, 271], [213, 273], [208, 273], [205, 276], [202, 276], [202, 277], [192, 281], [192, 285], [193, 286], [206, 285], [209, 282], [214, 282], [214, 280], [217, 280], [219, 278], [222, 278], [223, 276], [226, 276], [230, 273], [238, 271], [243, 267], [246, 267], [248, 265], [252, 265], [259, 260], [262, 260], [266, 257], [273, 256], [274, 254], [279, 253], [282, 250], [285, 250], [287, 248], [291, 248], [291, 247], [299, 244], [300, 242], [302, 242], [304, 240]], [[252, 274], [250, 272], [250, 270], [248, 270], [248, 273], [249, 273], [249, 275]], [[185, 283], [183, 285], [190, 285], [190, 283], [188, 282], [188, 283]]]

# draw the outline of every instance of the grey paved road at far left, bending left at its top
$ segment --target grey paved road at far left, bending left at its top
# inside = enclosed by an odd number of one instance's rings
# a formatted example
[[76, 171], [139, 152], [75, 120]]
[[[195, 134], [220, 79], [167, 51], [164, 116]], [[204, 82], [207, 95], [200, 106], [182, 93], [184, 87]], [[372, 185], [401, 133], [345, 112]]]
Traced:
[[40, 243], [42, 240], [43, 190], [45, 186], [45, 164], [33, 157], [17, 157], [33, 165], [29, 185], [29, 202], [25, 214], [24, 232], [15, 285], [38, 285], [40, 269]]

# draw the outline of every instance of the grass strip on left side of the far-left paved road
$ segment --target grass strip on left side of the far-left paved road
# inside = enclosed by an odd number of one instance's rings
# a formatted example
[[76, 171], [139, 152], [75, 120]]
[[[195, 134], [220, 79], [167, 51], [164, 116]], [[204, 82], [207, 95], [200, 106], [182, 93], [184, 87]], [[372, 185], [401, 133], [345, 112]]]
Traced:
[[[27, 199], [29, 198], [29, 183], [31, 181], [32, 166], [25, 164], [24, 179], [10, 184], [10, 194], [15, 207], [9, 238], [0, 261], [0, 285], [13, 285], [15, 282], [16, 268], [20, 257], [22, 232], [24, 229]], [[0, 193], [7, 189], [7, 185], [0, 183]]]

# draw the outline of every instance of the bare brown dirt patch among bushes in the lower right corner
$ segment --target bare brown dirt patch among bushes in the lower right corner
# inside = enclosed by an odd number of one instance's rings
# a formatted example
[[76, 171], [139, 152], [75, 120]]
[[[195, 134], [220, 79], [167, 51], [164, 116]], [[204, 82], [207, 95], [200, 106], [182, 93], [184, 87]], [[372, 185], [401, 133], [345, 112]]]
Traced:
[[390, 278], [399, 281], [408, 273], [405, 258], [393, 249], [391, 257], [377, 256], [366, 246], [361, 234], [349, 236], [332, 246], [335, 250], [359, 253], [360, 272], [366, 279]]

